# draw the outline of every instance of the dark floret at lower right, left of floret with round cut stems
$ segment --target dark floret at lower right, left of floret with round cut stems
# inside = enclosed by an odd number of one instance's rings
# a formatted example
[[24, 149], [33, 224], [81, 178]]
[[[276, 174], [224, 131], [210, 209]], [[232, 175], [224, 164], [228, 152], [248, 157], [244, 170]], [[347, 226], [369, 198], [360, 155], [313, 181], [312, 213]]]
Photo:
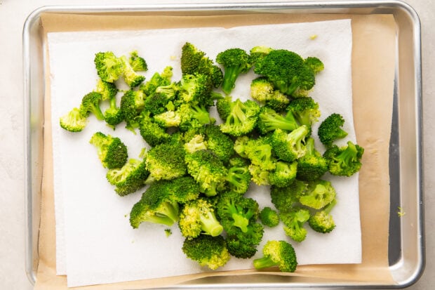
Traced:
[[272, 204], [279, 211], [289, 211], [299, 203], [299, 198], [307, 192], [307, 189], [307, 183], [297, 179], [287, 187], [272, 186], [270, 188]]

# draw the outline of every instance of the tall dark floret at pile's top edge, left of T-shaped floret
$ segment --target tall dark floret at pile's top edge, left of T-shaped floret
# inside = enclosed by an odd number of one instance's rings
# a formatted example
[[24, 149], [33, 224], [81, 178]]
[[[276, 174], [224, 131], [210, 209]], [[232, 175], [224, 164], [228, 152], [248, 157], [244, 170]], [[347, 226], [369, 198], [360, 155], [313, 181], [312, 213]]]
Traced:
[[219, 87], [224, 79], [220, 67], [214, 65], [213, 61], [206, 57], [206, 53], [189, 42], [182, 46], [181, 72], [182, 74], [203, 74], [208, 77], [215, 88]]

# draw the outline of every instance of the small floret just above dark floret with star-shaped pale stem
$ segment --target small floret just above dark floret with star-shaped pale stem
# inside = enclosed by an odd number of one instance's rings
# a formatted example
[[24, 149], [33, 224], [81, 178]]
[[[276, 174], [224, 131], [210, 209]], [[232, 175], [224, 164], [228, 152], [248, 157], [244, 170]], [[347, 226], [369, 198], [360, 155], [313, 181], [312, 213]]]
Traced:
[[227, 183], [231, 191], [244, 194], [250, 185], [248, 162], [241, 157], [229, 159]]

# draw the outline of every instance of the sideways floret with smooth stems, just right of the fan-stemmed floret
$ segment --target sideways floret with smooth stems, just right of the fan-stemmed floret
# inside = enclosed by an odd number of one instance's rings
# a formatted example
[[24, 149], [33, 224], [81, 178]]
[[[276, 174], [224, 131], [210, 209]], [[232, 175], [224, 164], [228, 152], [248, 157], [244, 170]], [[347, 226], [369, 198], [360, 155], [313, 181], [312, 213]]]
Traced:
[[288, 112], [286, 116], [283, 116], [270, 107], [261, 107], [260, 114], [258, 114], [257, 127], [262, 134], [276, 129], [293, 131], [299, 126], [300, 124], [297, 123], [293, 112]]

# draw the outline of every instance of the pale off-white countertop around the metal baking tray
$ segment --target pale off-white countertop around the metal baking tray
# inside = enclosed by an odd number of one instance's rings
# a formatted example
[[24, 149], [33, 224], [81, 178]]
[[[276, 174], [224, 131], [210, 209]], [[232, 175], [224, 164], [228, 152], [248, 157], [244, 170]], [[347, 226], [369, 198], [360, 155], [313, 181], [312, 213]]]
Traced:
[[[167, 1], [180, 3], [180, 1]], [[185, 1], [200, 3], [201, 1]], [[202, 1], [203, 2], [203, 1]], [[209, 1], [210, 2], [210, 1]], [[214, 1], [230, 2], [230, 1]], [[239, 2], [255, 2], [243, 1]], [[422, 25], [422, 82], [423, 82], [423, 170], [426, 267], [422, 277], [408, 289], [434, 289], [435, 276], [435, 205], [432, 192], [435, 178], [431, 171], [435, 166], [432, 135], [435, 128], [435, 6], [432, 1], [406, 0], [420, 17]], [[25, 272], [25, 161], [23, 152], [23, 72], [22, 27], [27, 16], [36, 8], [50, 5], [104, 5], [104, 4], [159, 4], [161, 1], [112, 1], [112, 0], [0, 0], [0, 289], [33, 289]]]

